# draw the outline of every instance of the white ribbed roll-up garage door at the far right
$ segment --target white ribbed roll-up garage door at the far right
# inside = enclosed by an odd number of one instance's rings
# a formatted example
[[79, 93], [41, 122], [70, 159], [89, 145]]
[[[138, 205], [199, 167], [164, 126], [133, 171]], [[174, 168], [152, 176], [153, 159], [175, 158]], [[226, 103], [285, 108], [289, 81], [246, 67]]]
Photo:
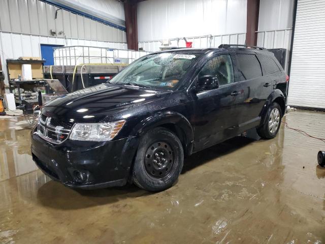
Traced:
[[288, 104], [325, 109], [325, 1], [298, 0]]

